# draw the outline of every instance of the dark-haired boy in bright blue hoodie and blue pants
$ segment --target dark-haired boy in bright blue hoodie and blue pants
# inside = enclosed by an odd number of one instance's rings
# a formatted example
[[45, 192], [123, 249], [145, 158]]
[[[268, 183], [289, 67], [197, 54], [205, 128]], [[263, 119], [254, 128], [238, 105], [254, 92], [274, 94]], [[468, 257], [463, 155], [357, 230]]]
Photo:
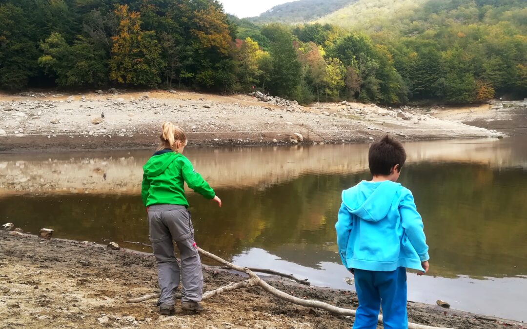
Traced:
[[406, 267], [428, 271], [428, 246], [414, 197], [396, 183], [406, 161], [403, 145], [384, 136], [369, 148], [372, 181], [342, 193], [337, 245], [342, 263], [355, 275], [359, 307], [354, 329], [408, 327]]

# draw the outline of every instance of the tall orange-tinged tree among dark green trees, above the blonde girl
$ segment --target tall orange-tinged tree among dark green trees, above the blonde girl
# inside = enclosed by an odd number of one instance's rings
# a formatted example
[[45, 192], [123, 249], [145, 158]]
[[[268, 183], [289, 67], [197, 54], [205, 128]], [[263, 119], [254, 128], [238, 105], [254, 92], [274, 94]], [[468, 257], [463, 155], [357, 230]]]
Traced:
[[129, 12], [128, 5], [115, 9], [120, 19], [118, 35], [113, 36], [110, 78], [124, 84], [154, 87], [161, 82], [165, 66], [161, 47], [153, 31], [141, 30], [140, 14]]

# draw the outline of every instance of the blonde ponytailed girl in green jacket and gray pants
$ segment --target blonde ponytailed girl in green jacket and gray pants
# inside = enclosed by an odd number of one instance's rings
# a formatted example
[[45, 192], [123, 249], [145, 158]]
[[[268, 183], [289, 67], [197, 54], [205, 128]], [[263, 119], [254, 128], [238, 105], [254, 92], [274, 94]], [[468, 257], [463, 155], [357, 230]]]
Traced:
[[[161, 296], [157, 305], [163, 315], [175, 314], [175, 291], [182, 276], [181, 308], [200, 312], [203, 273], [194, 228], [183, 184], [221, 207], [220, 198], [198, 174], [183, 153], [187, 136], [171, 122], [162, 126], [161, 145], [143, 166], [141, 197], [147, 207], [150, 241], [158, 264]], [[174, 255], [174, 242], [181, 254], [181, 269]]]

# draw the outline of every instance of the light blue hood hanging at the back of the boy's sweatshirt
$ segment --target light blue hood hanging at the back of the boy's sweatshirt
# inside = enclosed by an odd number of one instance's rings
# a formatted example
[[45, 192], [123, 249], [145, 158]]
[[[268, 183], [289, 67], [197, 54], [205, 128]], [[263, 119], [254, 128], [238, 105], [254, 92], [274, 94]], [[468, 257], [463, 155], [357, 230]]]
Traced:
[[362, 181], [342, 192], [348, 211], [369, 222], [378, 222], [388, 215], [401, 184], [391, 181]]

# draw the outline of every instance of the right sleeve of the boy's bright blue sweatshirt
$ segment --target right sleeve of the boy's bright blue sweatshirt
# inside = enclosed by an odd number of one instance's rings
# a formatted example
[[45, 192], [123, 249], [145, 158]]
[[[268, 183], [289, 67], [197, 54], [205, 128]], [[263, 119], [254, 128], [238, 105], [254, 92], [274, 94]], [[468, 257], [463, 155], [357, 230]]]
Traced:
[[414, 196], [409, 190], [403, 192], [401, 203], [399, 203], [399, 214], [401, 214], [404, 233], [417, 251], [421, 262], [428, 261], [430, 256], [428, 256], [428, 245], [423, 231], [423, 220], [417, 212]]

